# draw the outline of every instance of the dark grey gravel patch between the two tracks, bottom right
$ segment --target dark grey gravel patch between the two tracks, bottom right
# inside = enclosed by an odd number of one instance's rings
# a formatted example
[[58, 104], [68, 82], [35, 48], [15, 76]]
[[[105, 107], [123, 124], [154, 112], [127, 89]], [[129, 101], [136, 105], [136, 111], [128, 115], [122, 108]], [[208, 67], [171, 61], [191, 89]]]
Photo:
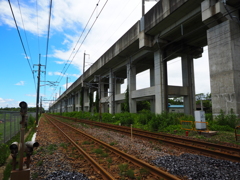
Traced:
[[240, 163], [184, 153], [180, 156], [162, 156], [152, 161], [169, 173], [194, 180], [240, 179]]

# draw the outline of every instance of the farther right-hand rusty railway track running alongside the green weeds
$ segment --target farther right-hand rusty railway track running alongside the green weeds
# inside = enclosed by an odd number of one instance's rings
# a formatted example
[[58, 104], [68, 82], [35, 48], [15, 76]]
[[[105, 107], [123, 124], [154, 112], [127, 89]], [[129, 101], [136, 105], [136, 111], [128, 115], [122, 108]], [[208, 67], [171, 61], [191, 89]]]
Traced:
[[[122, 133], [127, 133], [127, 134], [131, 133], [131, 129], [125, 126], [117, 126], [117, 125], [100, 123], [100, 122], [89, 121], [89, 120], [79, 120], [76, 118], [63, 117], [63, 116], [56, 116], [56, 117], [69, 119], [79, 123], [85, 123], [85, 124], [107, 128], [111, 130], [116, 130]], [[197, 141], [197, 140], [184, 138], [180, 136], [153, 133], [153, 132], [143, 131], [136, 128], [133, 128], [132, 134], [134, 136], [147, 138], [155, 141], [161, 141], [164, 143], [171, 144], [173, 146], [186, 148], [188, 150], [198, 153], [199, 155], [207, 155], [214, 158], [240, 162], [240, 148], [213, 144], [213, 143], [204, 142], [204, 141]]]

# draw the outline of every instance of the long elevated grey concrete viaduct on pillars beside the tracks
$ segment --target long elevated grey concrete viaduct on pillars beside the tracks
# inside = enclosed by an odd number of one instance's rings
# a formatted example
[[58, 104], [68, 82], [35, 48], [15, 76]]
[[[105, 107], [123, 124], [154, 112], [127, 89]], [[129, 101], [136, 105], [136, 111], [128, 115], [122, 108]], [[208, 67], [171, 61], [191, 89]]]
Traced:
[[[184, 97], [184, 112], [195, 110], [193, 59], [208, 45], [213, 113], [240, 114], [239, 0], [161, 0], [50, 107], [51, 112], [89, 111], [89, 95], [101, 94], [101, 111], [117, 113], [127, 79], [130, 112], [150, 100], [151, 110], [168, 110], [168, 98]], [[169, 86], [167, 61], [181, 57], [183, 86]], [[136, 75], [150, 71], [150, 87], [136, 90]], [[107, 93], [109, 91], [109, 93]], [[83, 92], [83, 93], [81, 93]], [[80, 100], [81, 99], [81, 100]], [[82, 102], [81, 102], [82, 101]]]

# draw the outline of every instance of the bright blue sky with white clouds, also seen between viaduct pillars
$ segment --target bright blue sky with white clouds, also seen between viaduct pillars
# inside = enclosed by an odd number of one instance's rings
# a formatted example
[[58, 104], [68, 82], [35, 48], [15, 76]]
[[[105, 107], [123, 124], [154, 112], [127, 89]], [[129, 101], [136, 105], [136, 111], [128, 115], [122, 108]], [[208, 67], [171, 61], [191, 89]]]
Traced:
[[[41, 54], [41, 64], [46, 65], [49, 3], [50, 0], [19, 0], [19, 8], [18, 1], [11, 0], [32, 70], [38, 70], [38, 67], [33, 65], [39, 63], [39, 54]], [[97, 9], [80, 43], [76, 46], [97, 3]], [[105, 3], [106, 6], [97, 18]], [[146, 2], [146, 11], [155, 3], [155, 1]], [[96, 23], [83, 42], [96, 18]], [[53, 0], [47, 68], [41, 67], [46, 71], [41, 73], [41, 80], [58, 81], [58, 83], [56, 87], [51, 87], [45, 85], [46, 82], [41, 82], [40, 96], [44, 100], [58, 97], [60, 88], [61, 93], [65, 91], [67, 77], [69, 87], [82, 74], [84, 51], [89, 54], [86, 59], [86, 68], [88, 68], [140, 18], [141, 0]], [[79, 51], [76, 53], [78, 48]], [[74, 58], [70, 57], [72, 52]], [[18, 107], [20, 101], [26, 101], [31, 107], [36, 106], [37, 73], [35, 72], [33, 77], [7, 0], [0, 0], [0, 53], [0, 107]], [[207, 56], [207, 48], [205, 48], [203, 58], [194, 62], [196, 93], [210, 92]], [[181, 85], [180, 65], [180, 59], [169, 62], [169, 84]], [[149, 72], [139, 74], [138, 78], [149, 79]], [[147, 87], [148, 81], [139, 81], [137, 88]], [[49, 101], [44, 101], [43, 106], [47, 109]]]

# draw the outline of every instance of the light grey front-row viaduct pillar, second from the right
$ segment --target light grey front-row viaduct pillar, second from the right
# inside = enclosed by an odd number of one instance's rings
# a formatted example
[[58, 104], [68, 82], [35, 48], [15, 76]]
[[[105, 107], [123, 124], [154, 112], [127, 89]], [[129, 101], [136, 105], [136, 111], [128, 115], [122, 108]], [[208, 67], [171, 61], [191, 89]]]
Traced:
[[167, 61], [163, 61], [163, 52], [154, 52], [155, 113], [167, 111]]

